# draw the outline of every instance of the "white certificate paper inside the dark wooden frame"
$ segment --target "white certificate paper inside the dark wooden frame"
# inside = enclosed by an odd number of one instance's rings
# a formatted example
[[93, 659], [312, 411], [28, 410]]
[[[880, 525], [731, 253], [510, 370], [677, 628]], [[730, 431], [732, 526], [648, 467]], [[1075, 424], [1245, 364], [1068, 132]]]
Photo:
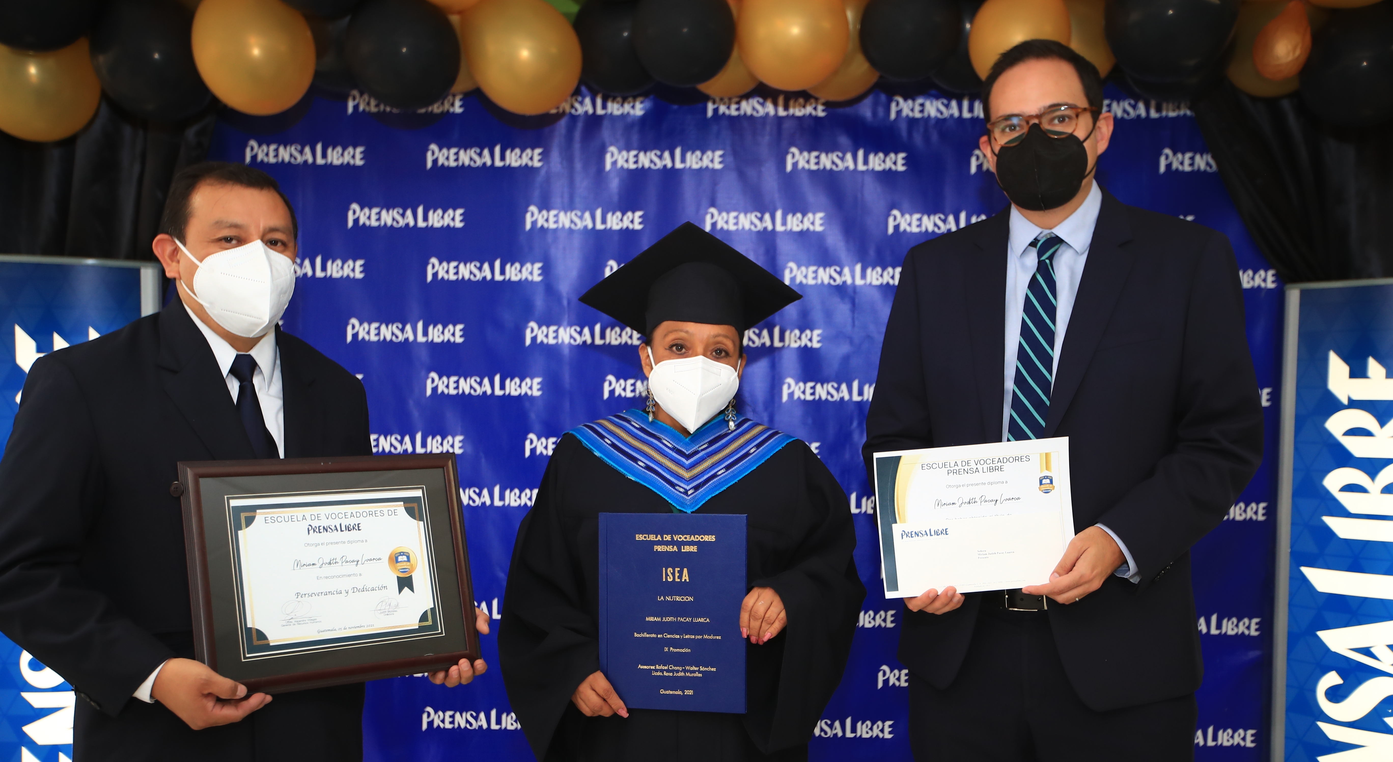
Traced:
[[425, 488], [226, 500], [242, 659], [442, 634]]

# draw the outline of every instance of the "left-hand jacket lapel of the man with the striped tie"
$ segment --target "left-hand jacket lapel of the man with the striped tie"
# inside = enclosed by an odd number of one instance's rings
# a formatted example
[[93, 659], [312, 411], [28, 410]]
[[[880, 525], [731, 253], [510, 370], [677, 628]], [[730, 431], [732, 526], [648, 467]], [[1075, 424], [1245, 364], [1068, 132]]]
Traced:
[[976, 251], [963, 263], [967, 294], [968, 330], [972, 345], [972, 373], [982, 411], [981, 442], [1002, 437], [1003, 372], [1006, 362], [1006, 247], [1010, 233], [1009, 212], [978, 223]]

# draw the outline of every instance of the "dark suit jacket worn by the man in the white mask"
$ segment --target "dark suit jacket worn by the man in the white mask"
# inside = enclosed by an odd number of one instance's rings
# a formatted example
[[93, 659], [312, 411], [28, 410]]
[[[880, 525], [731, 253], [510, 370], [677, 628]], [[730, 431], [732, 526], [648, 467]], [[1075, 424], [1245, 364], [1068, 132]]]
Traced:
[[[362, 382], [276, 330], [286, 456], [372, 454]], [[176, 464], [252, 458], [251, 440], [178, 300], [40, 358], [21, 400], [0, 460], [0, 631], [114, 717], [194, 656]]]

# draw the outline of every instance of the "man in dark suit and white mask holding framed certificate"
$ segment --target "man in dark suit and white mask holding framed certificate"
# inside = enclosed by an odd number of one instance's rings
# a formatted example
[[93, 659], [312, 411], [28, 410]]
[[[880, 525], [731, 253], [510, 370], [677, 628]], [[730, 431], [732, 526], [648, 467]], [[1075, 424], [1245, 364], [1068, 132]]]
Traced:
[[274, 180], [189, 167], [162, 230], [180, 298], [25, 380], [0, 460], [0, 630], [84, 699], [84, 762], [361, 759], [361, 683], [272, 702], [192, 660], [176, 462], [372, 454], [362, 383], [276, 327], [297, 223]]

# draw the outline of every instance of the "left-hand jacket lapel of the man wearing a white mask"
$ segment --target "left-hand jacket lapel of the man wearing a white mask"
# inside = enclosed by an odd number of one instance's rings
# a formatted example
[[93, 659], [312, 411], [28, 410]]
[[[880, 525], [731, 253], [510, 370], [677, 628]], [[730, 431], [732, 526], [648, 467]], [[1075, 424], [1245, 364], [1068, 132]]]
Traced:
[[160, 312], [157, 365], [164, 393], [215, 460], [256, 457], [213, 350], [178, 298]]

